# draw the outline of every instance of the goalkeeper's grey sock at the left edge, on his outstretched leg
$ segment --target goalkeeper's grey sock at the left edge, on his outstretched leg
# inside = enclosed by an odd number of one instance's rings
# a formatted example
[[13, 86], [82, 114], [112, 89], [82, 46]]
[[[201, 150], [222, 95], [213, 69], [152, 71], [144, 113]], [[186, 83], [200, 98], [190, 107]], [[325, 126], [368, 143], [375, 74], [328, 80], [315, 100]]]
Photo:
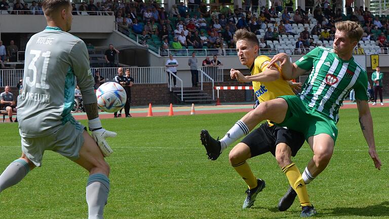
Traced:
[[17, 159], [10, 163], [0, 175], [0, 192], [18, 184], [30, 171], [28, 163], [23, 159]]

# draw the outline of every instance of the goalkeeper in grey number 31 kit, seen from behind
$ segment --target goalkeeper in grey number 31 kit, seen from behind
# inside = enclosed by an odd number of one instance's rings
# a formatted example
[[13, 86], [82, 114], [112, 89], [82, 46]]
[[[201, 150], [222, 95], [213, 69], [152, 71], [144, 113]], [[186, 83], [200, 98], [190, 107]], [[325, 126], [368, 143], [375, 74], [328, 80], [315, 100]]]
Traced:
[[[89, 219], [103, 218], [109, 193], [109, 165], [104, 157], [112, 153], [105, 138], [116, 133], [101, 127], [87, 47], [67, 32], [72, 22], [69, 0], [44, 0], [42, 6], [47, 27], [27, 43], [25, 86], [18, 97], [22, 156], [0, 175], [0, 192], [41, 166], [44, 152], [51, 150], [89, 172]], [[70, 114], [75, 79], [84, 98], [92, 136]]]

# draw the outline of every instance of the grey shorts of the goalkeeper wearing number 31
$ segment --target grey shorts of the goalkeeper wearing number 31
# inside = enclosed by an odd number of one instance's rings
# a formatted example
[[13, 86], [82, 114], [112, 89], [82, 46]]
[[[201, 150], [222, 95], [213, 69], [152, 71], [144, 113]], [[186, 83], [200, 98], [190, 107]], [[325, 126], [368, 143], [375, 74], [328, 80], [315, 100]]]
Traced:
[[74, 161], [84, 143], [85, 126], [72, 119], [53, 134], [43, 137], [22, 137], [22, 152], [35, 165], [42, 165], [45, 151], [54, 151]]

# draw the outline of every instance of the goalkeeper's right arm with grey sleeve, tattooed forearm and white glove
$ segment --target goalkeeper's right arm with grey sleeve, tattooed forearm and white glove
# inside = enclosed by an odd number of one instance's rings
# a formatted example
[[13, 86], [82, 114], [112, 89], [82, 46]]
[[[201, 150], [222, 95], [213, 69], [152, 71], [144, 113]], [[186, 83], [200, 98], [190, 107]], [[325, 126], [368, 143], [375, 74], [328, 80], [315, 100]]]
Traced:
[[69, 58], [72, 63], [74, 75], [77, 79], [81, 94], [83, 95], [84, 107], [88, 117], [89, 130], [96, 143], [99, 145], [104, 157], [113, 153], [105, 138], [116, 136], [115, 132], [102, 128], [98, 114], [97, 98], [94, 92], [94, 79], [89, 67], [88, 50], [83, 41], [77, 42], [70, 50]]

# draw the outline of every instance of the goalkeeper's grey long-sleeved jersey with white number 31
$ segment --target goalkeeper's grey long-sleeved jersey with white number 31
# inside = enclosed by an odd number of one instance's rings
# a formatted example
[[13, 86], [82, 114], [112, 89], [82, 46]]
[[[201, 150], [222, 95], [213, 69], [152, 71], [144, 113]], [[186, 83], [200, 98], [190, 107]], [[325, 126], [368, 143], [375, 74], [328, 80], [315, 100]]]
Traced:
[[97, 102], [85, 43], [58, 27], [31, 36], [25, 51], [23, 92], [18, 96], [22, 137], [42, 137], [75, 123], [70, 114], [75, 85], [84, 103]]

